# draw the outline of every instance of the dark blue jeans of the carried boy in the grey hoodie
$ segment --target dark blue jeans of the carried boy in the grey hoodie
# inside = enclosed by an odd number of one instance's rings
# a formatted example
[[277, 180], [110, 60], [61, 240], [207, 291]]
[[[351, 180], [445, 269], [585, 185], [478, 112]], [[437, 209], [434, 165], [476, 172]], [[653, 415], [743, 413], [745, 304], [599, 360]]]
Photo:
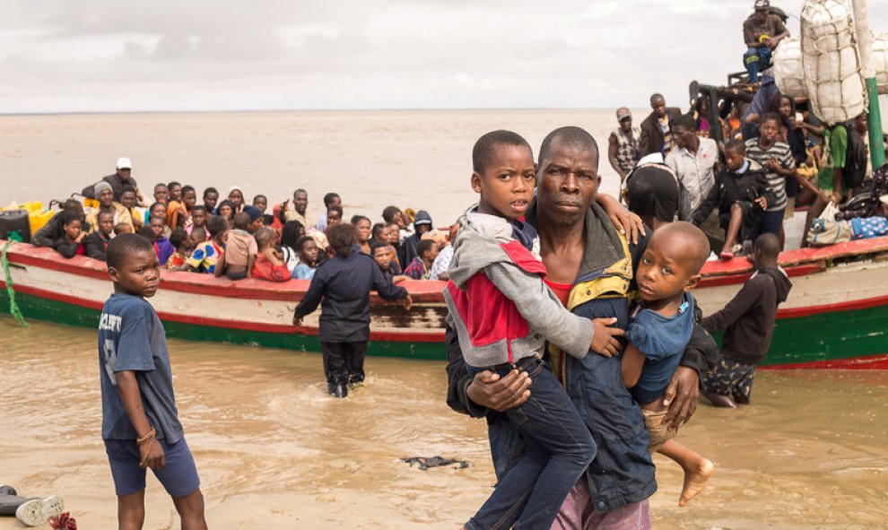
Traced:
[[[516, 368], [526, 371], [533, 382], [530, 399], [488, 422], [499, 483], [466, 523], [469, 530], [549, 528], [596, 454], [592, 434], [549, 365], [528, 357]], [[491, 369], [505, 375], [512, 365]], [[477, 371], [469, 367], [470, 373]], [[510, 463], [501, 456], [515, 455], [510, 449], [519, 441], [525, 450], [509, 469]]]

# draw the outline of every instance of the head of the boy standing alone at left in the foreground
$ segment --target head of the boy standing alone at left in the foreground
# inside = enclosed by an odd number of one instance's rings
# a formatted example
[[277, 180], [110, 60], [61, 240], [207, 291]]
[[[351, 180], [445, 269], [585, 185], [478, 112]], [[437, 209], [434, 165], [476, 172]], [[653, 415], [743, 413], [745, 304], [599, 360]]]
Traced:
[[151, 298], [161, 283], [161, 264], [150, 241], [135, 234], [120, 234], [105, 250], [108, 275], [114, 290]]

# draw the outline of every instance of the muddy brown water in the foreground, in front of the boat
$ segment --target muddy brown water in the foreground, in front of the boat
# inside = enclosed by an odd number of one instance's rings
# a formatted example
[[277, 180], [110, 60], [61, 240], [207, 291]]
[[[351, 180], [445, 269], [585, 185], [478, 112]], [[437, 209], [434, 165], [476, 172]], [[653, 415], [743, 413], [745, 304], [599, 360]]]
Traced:
[[[61, 495], [86, 530], [116, 526], [97, 355], [89, 329], [0, 317], [0, 483]], [[448, 409], [443, 362], [370, 357], [335, 400], [317, 353], [170, 340], [170, 355], [211, 527], [455, 529], [491, 491], [483, 421]], [[679, 439], [716, 473], [678, 508], [680, 469], [657, 457], [658, 528], [888, 527], [886, 372], [761, 371], [753, 405], [701, 404]], [[399, 461], [436, 455], [472, 465]], [[144, 527], [178, 528], [151, 476]]]

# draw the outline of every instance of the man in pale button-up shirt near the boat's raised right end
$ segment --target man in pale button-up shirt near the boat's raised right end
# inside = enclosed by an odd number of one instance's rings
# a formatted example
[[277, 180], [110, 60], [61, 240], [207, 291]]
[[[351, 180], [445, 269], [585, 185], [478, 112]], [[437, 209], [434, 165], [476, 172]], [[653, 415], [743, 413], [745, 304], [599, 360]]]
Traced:
[[[666, 166], [675, 171], [681, 184], [678, 219], [690, 222], [693, 213], [700, 208], [703, 199], [715, 186], [715, 164], [718, 161], [718, 143], [711, 138], [697, 135], [697, 123], [689, 114], [676, 117], [672, 122], [675, 149], [666, 156]], [[720, 249], [725, 232], [718, 225], [718, 212], [697, 224], [710, 240], [710, 246]]]

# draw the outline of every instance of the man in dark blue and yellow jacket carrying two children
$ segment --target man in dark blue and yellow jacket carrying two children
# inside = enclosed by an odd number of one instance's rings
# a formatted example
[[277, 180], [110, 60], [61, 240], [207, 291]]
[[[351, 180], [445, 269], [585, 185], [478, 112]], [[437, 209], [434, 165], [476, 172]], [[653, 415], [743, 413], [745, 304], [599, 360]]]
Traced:
[[[578, 127], [548, 135], [539, 152], [536, 198], [527, 223], [539, 232], [546, 282], [571, 312], [587, 318], [612, 318], [614, 326], [629, 323], [633, 267], [647, 239], [618, 234], [608, 218], [631, 225], [612, 197], [599, 198], [600, 178], [595, 140]], [[609, 213], [614, 212], [616, 213]], [[627, 226], [627, 230], [630, 226]], [[447, 403], [457, 413], [506, 423], [502, 413], [527, 402], [533, 393], [526, 373], [504, 376], [483, 370], [469, 375], [457, 332], [448, 326]], [[665, 402], [669, 421], [677, 426], [692, 416], [698, 395], [698, 373], [706, 368], [705, 352], [715, 343], [695, 326], [691, 342], [676, 369]], [[561, 379], [598, 446], [588, 472], [562, 504], [556, 530], [650, 528], [648, 498], [657, 488], [648, 452], [648, 432], [637, 404], [622, 383], [619, 357], [587, 355], [574, 359], [549, 348], [553, 371]], [[507, 474], [524, 452], [517, 430], [501, 429], [491, 442], [497, 477]], [[622, 526], [621, 526], [622, 525]]]

